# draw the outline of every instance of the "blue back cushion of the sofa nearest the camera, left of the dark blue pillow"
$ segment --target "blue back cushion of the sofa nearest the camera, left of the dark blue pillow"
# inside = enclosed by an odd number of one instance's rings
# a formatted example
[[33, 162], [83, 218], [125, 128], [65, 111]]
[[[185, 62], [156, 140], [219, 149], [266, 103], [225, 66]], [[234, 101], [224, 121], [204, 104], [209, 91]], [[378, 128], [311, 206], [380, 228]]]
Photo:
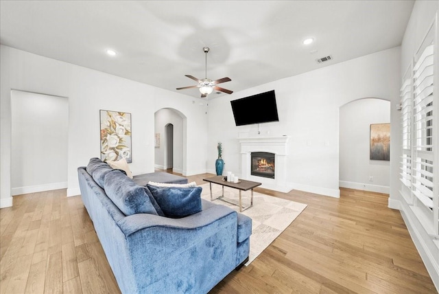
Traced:
[[104, 190], [113, 203], [125, 214], [156, 214], [145, 187], [137, 185], [120, 170], [107, 172], [104, 177]]

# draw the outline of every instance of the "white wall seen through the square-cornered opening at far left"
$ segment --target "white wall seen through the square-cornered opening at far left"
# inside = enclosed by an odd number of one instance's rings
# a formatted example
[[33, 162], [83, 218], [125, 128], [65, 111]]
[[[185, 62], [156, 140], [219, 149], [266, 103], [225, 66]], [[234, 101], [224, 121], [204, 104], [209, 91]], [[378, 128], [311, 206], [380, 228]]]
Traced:
[[67, 98], [12, 91], [12, 195], [67, 188]]

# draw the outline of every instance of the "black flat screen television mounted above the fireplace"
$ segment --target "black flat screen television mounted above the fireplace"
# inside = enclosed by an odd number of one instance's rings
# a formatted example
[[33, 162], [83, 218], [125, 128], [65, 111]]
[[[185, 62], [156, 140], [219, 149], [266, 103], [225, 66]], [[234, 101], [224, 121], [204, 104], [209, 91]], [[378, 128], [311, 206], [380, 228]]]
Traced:
[[237, 126], [278, 122], [274, 90], [230, 101]]

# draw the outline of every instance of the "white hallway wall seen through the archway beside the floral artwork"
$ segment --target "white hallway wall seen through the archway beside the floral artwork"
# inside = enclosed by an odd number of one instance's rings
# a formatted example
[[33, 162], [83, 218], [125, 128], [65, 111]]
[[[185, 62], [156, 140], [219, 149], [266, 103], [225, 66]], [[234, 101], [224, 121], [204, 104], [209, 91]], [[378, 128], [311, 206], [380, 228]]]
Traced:
[[182, 173], [183, 168], [183, 118], [173, 109], [160, 109], [155, 113], [155, 132], [160, 133], [160, 148], [155, 148], [155, 166], [165, 169], [167, 151], [166, 125], [174, 125], [173, 171]]

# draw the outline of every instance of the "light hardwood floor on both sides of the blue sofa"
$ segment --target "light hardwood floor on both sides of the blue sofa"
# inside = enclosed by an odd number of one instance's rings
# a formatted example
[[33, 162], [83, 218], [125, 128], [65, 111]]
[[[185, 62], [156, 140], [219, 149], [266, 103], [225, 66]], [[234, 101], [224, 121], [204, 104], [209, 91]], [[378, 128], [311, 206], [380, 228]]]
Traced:
[[[211, 293], [437, 293], [387, 195], [255, 190], [308, 207]], [[14, 206], [0, 210], [0, 236], [0, 294], [120, 293], [80, 196], [14, 196]]]

